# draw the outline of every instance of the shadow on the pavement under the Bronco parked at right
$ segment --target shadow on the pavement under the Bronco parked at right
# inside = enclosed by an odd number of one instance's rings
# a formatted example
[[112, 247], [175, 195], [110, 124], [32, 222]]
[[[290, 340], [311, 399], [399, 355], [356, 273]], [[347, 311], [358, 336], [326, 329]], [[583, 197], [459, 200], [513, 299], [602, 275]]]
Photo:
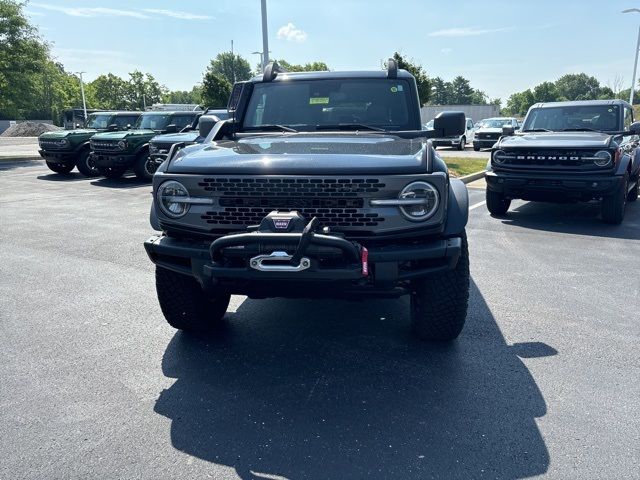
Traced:
[[621, 225], [600, 219], [600, 203], [527, 202], [500, 217], [505, 225], [554, 233], [640, 240], [640, 201], [628, 202]]

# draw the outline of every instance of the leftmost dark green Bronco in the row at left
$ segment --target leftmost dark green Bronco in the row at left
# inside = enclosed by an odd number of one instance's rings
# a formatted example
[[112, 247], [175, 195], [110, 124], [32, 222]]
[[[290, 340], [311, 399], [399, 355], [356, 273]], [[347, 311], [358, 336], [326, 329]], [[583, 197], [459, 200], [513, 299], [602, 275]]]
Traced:
[[40, 135], [40, 156], [56, 173], [69, 173], [73, 167], [87, 177], [97, 176], [89, 154], [89, 139], [98, 132], [125, 130], [136, 123], [140, 112], [96, 112], [87, 117], [84, 128], [60, 130]]

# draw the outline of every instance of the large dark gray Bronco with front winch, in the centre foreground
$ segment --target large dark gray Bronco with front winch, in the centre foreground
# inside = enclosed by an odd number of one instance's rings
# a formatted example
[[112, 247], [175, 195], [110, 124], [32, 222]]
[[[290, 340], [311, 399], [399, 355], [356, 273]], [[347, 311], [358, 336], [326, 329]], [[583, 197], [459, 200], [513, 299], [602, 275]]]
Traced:
[[231, 294], [406, 294], [421, 338], [460, 334], [468, 195], [427, 137], [460, 135], [465, 118], [443, 113], [421, 130], [415, 79], [388, 65], [287, 73], [270, 64], [234, 85], [230, 119], [204, 143], [172, 147], [153, 177], [151, 224], [162, 233], [145, 242], [172, 326], [213, 326]]

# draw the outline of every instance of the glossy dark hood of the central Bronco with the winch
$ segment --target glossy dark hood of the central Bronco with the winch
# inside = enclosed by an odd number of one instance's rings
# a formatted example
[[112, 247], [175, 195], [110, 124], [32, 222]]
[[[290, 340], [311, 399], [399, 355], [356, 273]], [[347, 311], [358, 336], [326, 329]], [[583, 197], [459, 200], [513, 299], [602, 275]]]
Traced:
[[282, 135], [188, 147], [168, 172], [349, 175], [423, 173], [423, 142], [393, 135]]

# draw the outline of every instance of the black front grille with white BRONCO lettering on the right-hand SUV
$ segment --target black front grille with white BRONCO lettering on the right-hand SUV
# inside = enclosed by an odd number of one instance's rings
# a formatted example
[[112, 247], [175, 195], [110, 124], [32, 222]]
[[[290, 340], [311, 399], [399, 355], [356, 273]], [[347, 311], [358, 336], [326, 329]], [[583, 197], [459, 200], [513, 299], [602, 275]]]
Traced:
[[601, 170], [593, 162], [597, 150], [505, 150], [497, 168], [547, 170]]

